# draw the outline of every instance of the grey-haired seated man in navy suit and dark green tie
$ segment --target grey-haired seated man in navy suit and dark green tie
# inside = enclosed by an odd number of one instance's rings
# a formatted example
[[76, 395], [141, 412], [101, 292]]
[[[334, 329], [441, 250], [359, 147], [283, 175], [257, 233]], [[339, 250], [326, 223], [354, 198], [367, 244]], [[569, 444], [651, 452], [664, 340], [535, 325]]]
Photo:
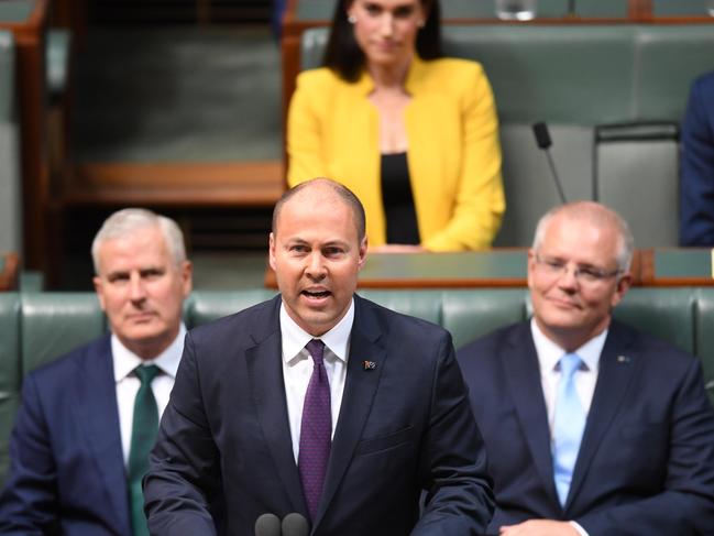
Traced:
[[25, 378], [3, 535], [149, 534], [141, 479], [182, 355], [191, 265], [176, 223], [142, 209], [110, 216], [92, 258], [112, 333]]

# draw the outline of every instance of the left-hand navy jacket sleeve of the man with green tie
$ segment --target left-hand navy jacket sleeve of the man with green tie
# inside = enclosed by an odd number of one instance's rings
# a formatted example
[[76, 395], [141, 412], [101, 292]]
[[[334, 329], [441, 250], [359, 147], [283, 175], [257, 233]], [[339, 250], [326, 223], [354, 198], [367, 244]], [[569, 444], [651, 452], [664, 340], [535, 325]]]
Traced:
[[22, 387], [22, 404], [10, 438], [10, 474], [0, 495], [0, 534], [50, 534], [58, 521], [57, 470], [34, 378]]

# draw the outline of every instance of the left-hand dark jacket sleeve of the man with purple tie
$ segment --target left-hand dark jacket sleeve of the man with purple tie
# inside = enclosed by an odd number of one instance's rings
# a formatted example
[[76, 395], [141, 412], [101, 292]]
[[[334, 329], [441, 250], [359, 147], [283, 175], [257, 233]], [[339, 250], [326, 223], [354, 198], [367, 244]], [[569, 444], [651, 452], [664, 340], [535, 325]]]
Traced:
[[219, 453], [204, 411], [190, 333], [144, 478], [153, 536], [213, 536], [209, 504], [220, 488]]

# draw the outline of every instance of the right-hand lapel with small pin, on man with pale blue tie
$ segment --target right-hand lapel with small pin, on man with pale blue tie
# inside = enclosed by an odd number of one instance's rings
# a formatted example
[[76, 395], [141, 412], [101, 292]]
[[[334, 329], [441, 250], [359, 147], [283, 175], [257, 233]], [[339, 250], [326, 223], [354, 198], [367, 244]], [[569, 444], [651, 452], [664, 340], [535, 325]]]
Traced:
[[623, 397], [635, 376], [638, 362], [637, 354], [629, 352], [631, 339], [631, 333], [623, 329], [617, 322], [613, 321], [611, 324], [607, 340], [600, 358], [597, 384], [587, 414], [587, 423], [580, 445], [565, 510], [575, 500], [578, 491], [585, 480], [593, 456], [597, 451], [600, 441], [622, 407]]

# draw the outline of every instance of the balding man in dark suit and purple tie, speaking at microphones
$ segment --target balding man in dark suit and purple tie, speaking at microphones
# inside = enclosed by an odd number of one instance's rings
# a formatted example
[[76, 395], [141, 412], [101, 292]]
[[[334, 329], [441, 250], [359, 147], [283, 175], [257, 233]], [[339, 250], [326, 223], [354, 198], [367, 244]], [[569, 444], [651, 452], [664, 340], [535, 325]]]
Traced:
[[[301, 514], [315, 536], [480, 534], [485, 458], [443, 329], [354, 294], [364, 210], [315, 179], [277, 203], [279, 296], [193, 330], [144, 482], [155, 536]], [[419, 499], [426, 491], [419, 517]]]

